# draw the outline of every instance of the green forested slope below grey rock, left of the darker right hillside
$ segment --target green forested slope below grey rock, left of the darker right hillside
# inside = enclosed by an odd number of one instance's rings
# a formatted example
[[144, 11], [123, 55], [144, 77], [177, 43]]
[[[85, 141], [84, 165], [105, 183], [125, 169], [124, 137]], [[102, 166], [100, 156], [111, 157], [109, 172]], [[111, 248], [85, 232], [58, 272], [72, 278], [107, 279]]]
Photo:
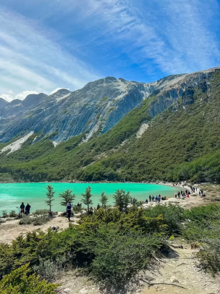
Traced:
[[22, 148], [9, 155], [0, 154], [0, 173], [9, 173], [15, 180], [43, 181], [79, 178], [81, 168], [97, 159], [98, 154], [109, 152], [134, 134], [143, 120], [150, 119], [148, 104], [154, 97], [143, 101], [110, 131], [82, 143], [84, 134], [70, 138], [54, 148], [49, 138], [32, 144], [35, 135]]

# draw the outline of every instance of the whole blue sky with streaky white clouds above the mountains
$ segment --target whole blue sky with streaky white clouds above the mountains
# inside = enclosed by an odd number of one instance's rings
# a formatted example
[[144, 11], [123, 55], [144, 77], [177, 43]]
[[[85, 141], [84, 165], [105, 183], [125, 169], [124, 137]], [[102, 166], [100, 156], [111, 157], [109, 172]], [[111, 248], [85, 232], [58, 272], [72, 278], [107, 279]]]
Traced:
[[106, 76], [150, 82], [220, 66], [220, 0], [10, 0], [0, 5], [0, 97]]

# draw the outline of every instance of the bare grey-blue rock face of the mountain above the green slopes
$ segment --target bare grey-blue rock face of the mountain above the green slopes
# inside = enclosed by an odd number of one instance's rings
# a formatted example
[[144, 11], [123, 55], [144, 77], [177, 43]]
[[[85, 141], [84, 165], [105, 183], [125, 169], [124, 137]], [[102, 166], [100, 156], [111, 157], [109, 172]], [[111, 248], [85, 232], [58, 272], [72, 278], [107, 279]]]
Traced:
[[157, 95], [150, 103], [151, 117], [179, 98], [183, 104], [191, 104], [190, 88], [199, 86], [206, 92], [214, 70], [167, 76], [152, 83], [107, 77], [74, 92], [60, 89], [50, 96], [40, 93], [28, 95], [23, 101], [0, 101], [0, 142], [31, 131], [42, 131], [43, 135], [53, 133], [55, 143], [83, 132], [88, 140], [112, 128], [143, 99], [151, 96]]

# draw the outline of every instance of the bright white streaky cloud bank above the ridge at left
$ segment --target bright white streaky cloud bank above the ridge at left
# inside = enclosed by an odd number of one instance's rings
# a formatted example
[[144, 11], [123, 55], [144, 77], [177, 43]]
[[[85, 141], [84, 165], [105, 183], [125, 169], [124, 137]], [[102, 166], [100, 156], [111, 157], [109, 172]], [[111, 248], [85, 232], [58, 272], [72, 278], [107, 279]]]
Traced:
[[60, 47], [51, 32], [20, 14], [1, 10], [0, 27], [0, 95], [13, 91], [8, 99], [23, 98], [27, 89], [50, 93], [57, 84], [76, 90], [99, 77]]

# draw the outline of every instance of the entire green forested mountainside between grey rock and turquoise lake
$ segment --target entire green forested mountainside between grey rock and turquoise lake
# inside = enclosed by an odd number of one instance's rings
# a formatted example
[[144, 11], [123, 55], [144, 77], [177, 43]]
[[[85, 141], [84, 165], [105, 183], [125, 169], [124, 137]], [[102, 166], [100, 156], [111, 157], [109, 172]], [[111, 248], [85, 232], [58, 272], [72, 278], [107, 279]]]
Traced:
[[0, 153], [1, 180], [220, 181], [220, 70], [152, 118], [158, 95], [88, 142], [82, 133], [54, 148], [51, 136], [33, 143], [33, 134], [20, 150]]

